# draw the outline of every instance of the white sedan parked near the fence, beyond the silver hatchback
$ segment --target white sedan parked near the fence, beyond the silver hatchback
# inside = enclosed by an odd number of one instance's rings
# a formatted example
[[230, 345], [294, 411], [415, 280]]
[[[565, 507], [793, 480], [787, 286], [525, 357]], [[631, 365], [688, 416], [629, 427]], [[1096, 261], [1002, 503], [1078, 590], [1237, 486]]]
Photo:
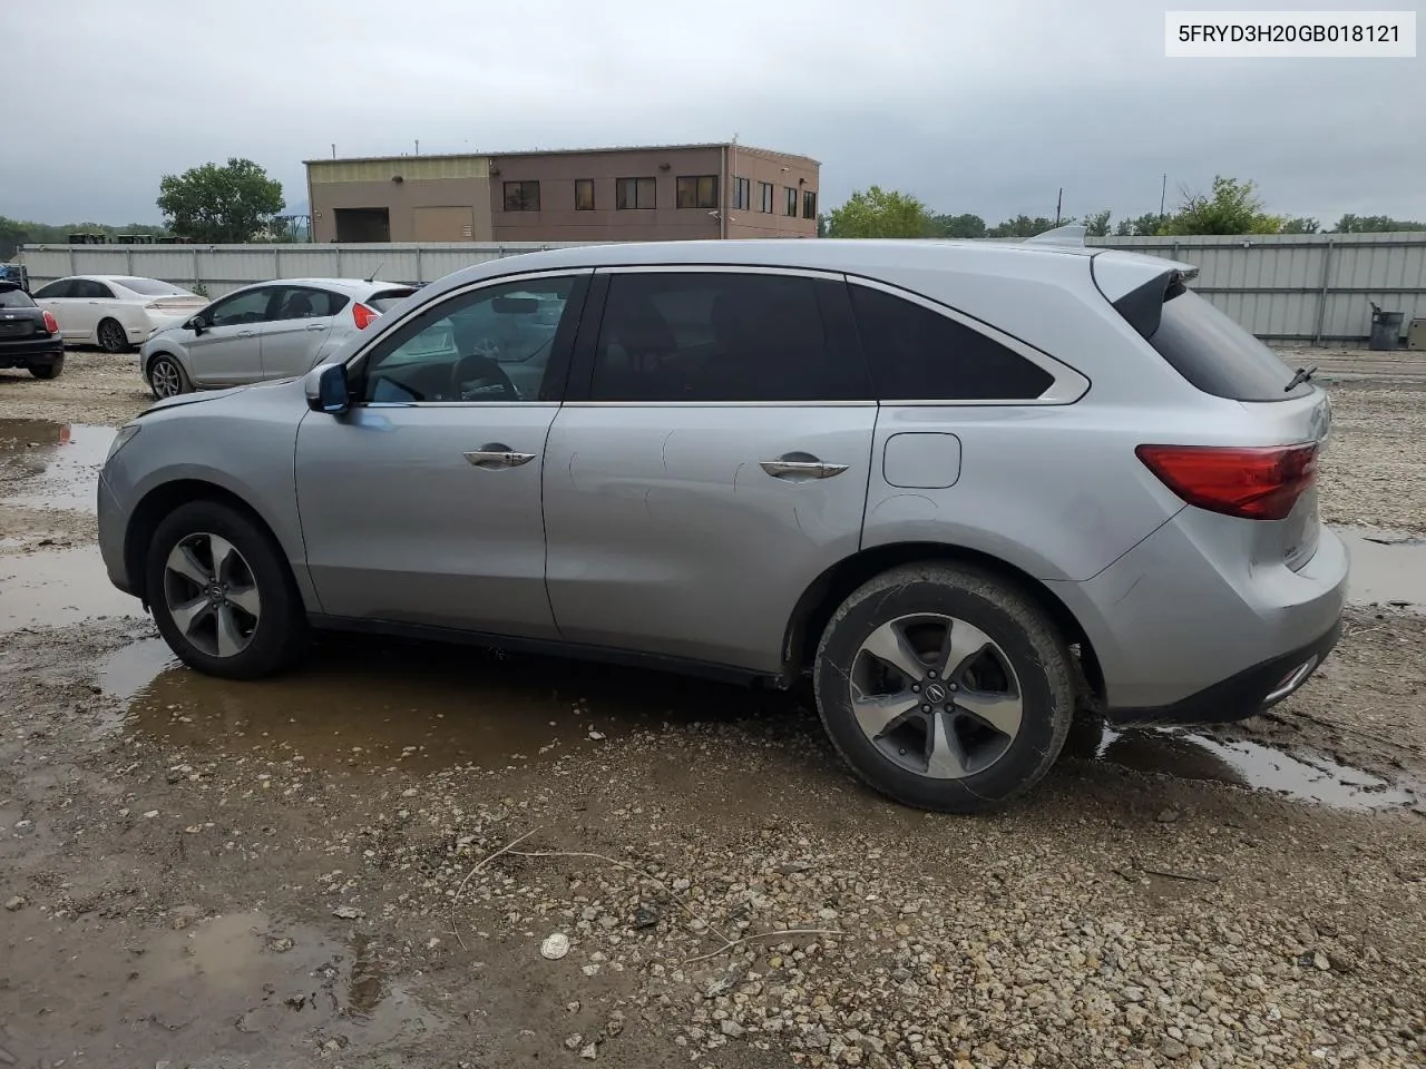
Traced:
[[208, 305], [208, 298], [168, 282], [130, 275], [71, 275], [33, 296], [58, 319], [67, 345], [98, 345], [104, 352], [127, 352]]

